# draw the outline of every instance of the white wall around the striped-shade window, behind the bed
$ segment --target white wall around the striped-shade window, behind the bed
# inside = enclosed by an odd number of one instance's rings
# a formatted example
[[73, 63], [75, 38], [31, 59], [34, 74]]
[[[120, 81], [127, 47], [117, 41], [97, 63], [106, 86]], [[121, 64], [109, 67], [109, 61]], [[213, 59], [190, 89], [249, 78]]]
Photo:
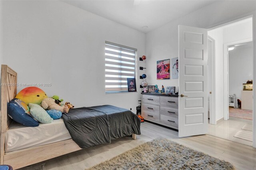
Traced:
[[41, 88], [75, 107], [110, 104], [136, 112], [139, 92], [105, 94], [104, 43], [137, 48], [140, 57], [145, 55], [144, 33], [61, 1], [2, 5], [2, 60], [17, 71], [18, 83], [52, 83]]

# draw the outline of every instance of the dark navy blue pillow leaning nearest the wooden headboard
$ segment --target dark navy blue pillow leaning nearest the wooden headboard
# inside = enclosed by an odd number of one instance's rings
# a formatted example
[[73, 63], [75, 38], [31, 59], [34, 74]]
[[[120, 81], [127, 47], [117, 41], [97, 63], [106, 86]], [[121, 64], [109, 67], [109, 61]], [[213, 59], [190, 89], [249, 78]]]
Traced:
[[27, 127], [39, 126], [38, 121], [30, 115], [28, 105], [20, 99], [12, 99], [10, 103], [7, 104], [7, 114], [14, 121]]

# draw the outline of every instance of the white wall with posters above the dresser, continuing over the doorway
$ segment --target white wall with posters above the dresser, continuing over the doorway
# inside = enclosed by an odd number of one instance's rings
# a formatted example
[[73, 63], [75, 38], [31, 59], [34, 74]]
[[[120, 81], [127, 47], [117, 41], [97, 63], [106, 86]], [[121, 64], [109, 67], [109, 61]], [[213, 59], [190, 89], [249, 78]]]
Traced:
[[[165, 87], [169, 85], [178, 86], [178, 79], [156, 79], [156, 61], [178, 57], [178, 25], [212, 28], [253, 12], [256, 8], [255, 3], [255, 1], [218, 1], [148, 32], [146, 34], [148, 84], [158, 84], [159, 87], [161, 85]], [[216, 59], [216, 67], [219, 67], [217, 62], [218, 59]], [[222, 94], [222, 89], [218, 89], [218, 86], [221, 85], [216, 83], [216, 93]], [[216, 99], [216, 108], [219, 109], [220, 115], [223, 115], [221, 100]]]

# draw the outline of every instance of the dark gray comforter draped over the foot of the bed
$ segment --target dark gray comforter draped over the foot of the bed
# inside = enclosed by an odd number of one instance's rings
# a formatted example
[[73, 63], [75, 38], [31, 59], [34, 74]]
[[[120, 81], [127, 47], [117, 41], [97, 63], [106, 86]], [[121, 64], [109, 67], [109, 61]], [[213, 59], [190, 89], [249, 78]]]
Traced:
[[110, 143], [112, 139], [133, 133], [140, 134], [137, 115], [111, 105], [71, 109], [62, 115], [62, 119], [80, 148]]

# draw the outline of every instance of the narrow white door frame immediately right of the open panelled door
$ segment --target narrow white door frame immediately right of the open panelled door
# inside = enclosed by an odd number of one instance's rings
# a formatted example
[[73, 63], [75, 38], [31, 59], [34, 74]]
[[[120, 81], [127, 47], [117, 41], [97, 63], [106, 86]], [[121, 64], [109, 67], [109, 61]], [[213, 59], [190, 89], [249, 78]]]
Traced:
[[[212, 94], [210, 95], [210, 124], [212, 125], [216, 125], [217, 121], [216, 121], [216, 77], [215, 77], [215, 40], [208, 36], [208, 40], [210, 40], [212, 42], [212, 57], [209, 58], [208, 60], [211, 59], [211, 72], [212, 72], [212, 80], [211, 80], [211, 84], [212, 84]], [[209, 94], [208, 94], [209, 95]]]

